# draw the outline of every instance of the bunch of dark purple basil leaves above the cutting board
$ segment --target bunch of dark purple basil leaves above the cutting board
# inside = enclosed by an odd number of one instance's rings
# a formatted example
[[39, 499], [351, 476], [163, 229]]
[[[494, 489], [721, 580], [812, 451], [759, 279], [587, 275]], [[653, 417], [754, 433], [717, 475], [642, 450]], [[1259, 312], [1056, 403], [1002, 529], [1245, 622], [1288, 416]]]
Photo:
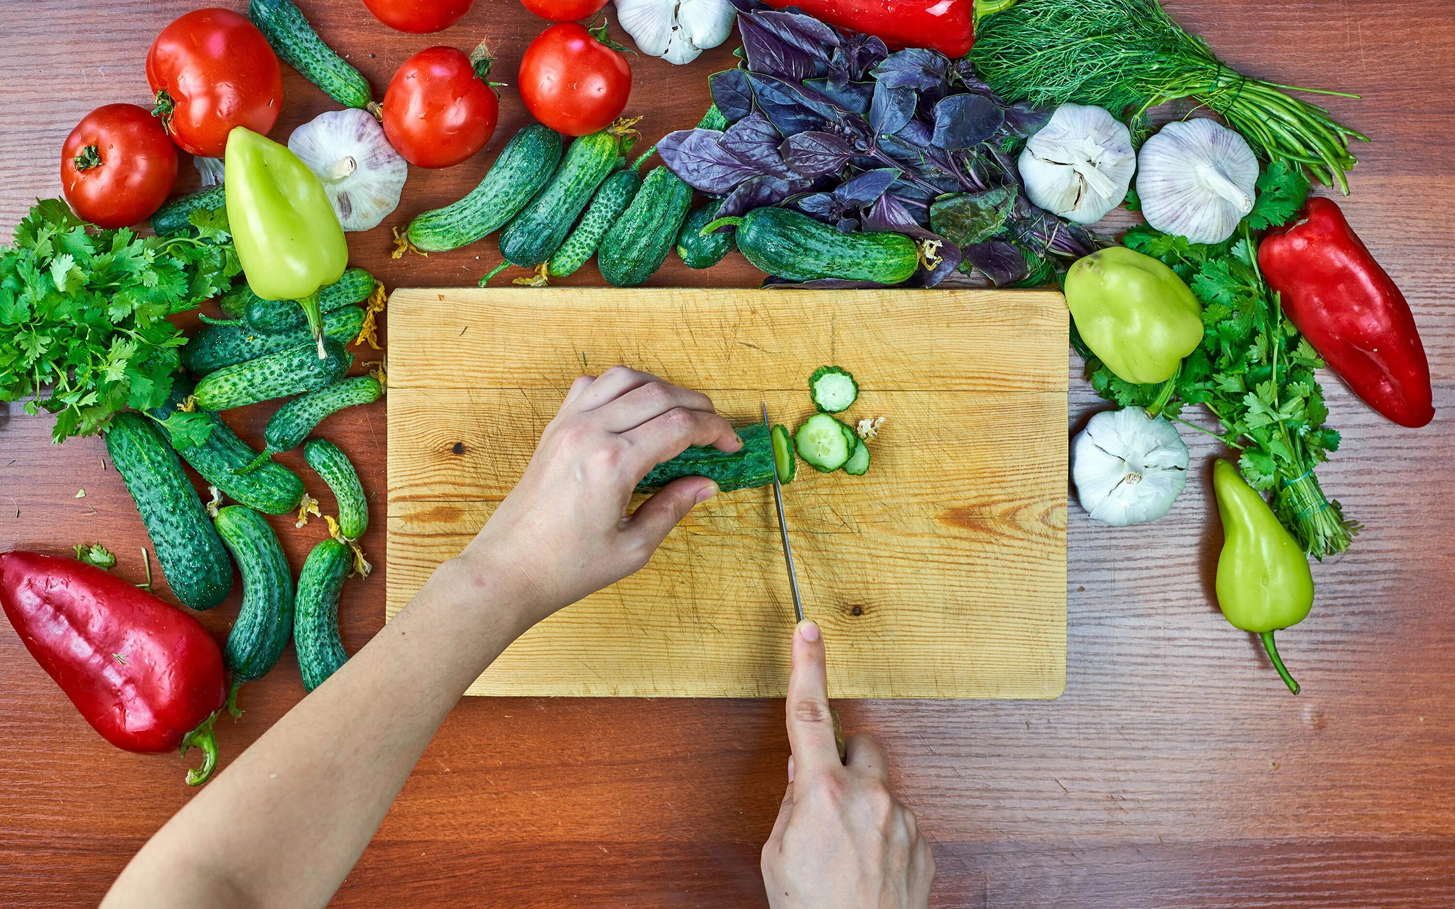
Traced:
[[[1085, 228], [1032, 205], [1016, 173], [1049, 111], [1005, 103], [965, 61], [890, 54], [879, 38], [735, 1], [744, 67], [711, 77], [729, 128], [658, 144], [672, 173], [723, 198], [719, 217], [783, 205], [845, 233], [915, 237], [925, 287], [956, 268], [998, 287], [1045, 284], [1096, 249]], [[931, 225], [937, 205], [973, 208], [985, 193], [992, 230]]]

